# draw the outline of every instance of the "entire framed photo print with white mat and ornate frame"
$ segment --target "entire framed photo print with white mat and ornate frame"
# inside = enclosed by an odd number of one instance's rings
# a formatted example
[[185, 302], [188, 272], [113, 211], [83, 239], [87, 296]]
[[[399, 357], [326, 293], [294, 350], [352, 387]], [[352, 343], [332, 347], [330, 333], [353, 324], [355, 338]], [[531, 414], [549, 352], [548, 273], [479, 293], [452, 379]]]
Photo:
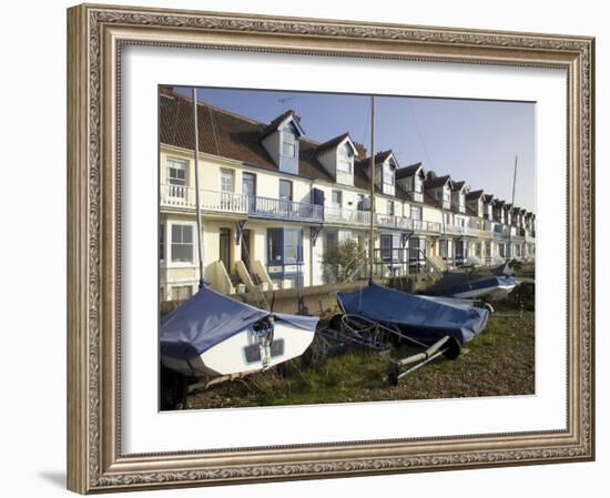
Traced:
[[68, 21], [70, 489], [594, 457], [591, 38]]

